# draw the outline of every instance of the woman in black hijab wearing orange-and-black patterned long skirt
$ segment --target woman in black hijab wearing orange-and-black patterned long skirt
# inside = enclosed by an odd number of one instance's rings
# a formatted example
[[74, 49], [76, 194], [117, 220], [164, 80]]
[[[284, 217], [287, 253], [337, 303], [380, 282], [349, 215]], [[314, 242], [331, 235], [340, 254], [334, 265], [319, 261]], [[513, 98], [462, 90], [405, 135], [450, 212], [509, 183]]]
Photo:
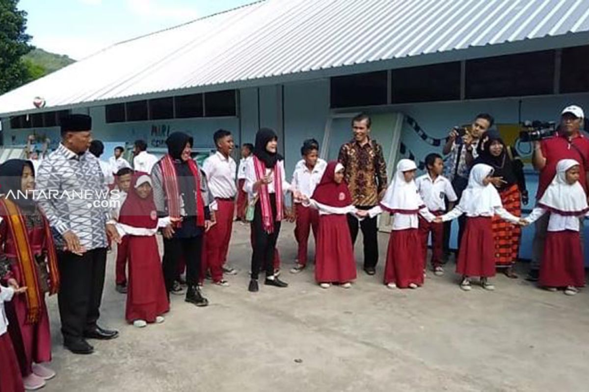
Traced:
[[[528, 192], [525, 187], [524, 164], [511, 146], [505, 145], [497, 130], [488, 130], [479, 143], [477, 163], [492, 166], [494, 177], [501, 178], [495, 185], [506, 210], [515, 216], [521, 216], [521, 203], [528, 203]], [[501, 219], [493, 219], [495, 238], [495, 266], [503, 270], [505, 276], [517, 279], [513, 266], [518, 259], [521, 229]]]

